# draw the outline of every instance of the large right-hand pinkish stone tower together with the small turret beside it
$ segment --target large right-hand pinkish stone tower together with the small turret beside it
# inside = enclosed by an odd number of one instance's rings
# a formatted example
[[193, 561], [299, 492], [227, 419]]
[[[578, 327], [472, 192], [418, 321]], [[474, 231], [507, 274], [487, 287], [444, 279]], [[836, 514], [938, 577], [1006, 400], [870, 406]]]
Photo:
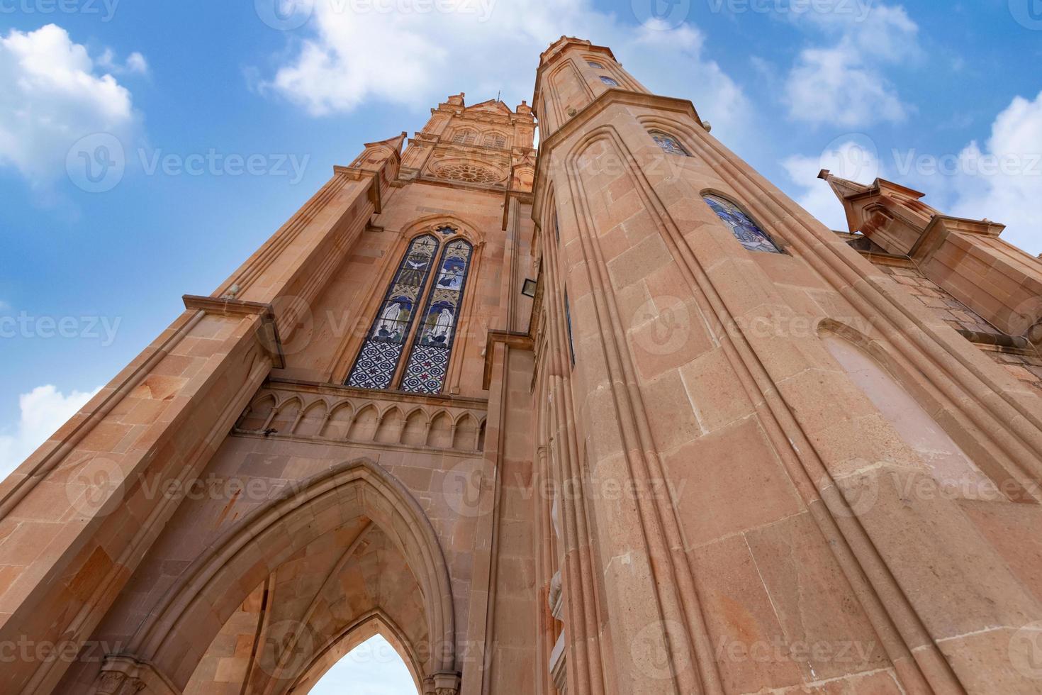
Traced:
[[534, 103], [554, 687], [1038, 692], [1042, 263], [889, 182], [834, 232], [585, 41]]

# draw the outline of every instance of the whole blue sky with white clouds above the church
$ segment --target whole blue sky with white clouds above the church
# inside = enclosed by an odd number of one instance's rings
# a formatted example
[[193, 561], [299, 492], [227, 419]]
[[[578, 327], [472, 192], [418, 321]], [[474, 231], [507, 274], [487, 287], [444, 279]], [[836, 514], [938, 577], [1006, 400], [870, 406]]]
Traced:
[[449, 94], [530, 99], [562, 34], [826, 224], [822, 167], [1042, 252], [1042, 0], [0, 0], [0, 472], [333, 165]]

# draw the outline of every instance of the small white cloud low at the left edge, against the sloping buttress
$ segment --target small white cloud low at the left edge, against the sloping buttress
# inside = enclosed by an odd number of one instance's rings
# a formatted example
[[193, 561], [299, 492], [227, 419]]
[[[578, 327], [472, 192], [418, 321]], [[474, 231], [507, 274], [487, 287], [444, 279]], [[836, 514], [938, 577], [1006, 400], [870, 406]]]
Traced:
[[100, 389], [64, 395], [53, 386], [36, 387], [18, 397], [21, 418], [10, 435], [0, 435], [0, 478], [25, 461], [58, 427], [74, 416]]

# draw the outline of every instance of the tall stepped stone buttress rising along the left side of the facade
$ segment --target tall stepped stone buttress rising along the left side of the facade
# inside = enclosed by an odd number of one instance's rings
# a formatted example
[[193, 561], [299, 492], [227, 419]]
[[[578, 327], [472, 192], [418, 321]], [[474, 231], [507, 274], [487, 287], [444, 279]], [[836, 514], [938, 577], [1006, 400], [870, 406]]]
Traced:
[[[3, 481], [0, 564], [17, 579], [0, 592], [0, 640], [91, 636], [179, 503], [167, 491], [203, 470], [378, 209], [398, 154], [367, 152], [213, 296], [185, 297], [170, 328]], [[47, 692], [68, 667], [20, 661], [0, 690]]]

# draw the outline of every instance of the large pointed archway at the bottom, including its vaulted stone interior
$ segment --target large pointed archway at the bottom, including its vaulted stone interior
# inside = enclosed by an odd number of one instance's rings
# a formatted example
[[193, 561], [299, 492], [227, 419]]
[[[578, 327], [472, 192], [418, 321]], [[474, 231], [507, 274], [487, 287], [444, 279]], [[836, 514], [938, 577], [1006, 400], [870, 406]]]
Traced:
[[[304, 693], [374, 634], [423, 690], [455, 692], [448, 571], [416, 500], [368, 460], [343, 464], [265, 504], [214, 543], [149, 613], [128, 673], [155, 692]], [[145, 672], [139, 675], [139, 672]], [[107, 691], [100, 691], [107, 692]]]

